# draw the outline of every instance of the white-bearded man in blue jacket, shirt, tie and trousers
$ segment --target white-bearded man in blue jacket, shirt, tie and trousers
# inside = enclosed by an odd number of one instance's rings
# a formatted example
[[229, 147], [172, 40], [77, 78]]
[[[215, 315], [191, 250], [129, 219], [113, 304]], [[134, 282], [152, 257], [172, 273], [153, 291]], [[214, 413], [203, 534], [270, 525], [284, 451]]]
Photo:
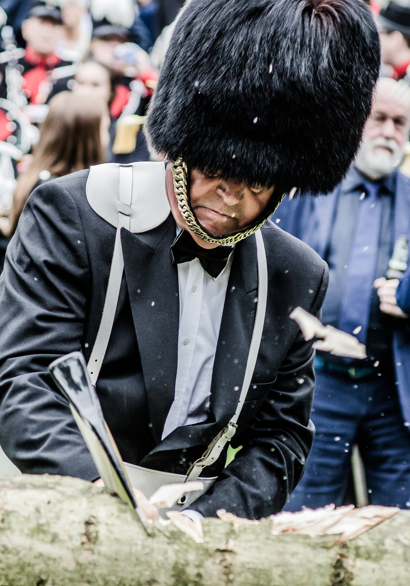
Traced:
[[409, 321], [395, 298], [399, 280], [385, 278], [394, 276], [391, 268], [406, 266], [410, 180], [398, 166], [409, 128], [408, 92], [381, 78], [347, 177], [329, 196], [287, 199], [275, 214], [280, 226], [327, 261], [323, 322], [356, 335], [368, 355], [359, 361], [317, 352], [316, 437], [287, 510], [340, 505], [354, 444], [364, 460], [370, 503], [410, 506]]

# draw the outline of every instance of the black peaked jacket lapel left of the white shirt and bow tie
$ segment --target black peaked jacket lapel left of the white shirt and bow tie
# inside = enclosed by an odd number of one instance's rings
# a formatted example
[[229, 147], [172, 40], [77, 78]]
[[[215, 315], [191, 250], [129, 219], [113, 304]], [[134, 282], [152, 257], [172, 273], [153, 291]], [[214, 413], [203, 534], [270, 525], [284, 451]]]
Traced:
[[174, 240], [171, 214], [149, 232], [121, 230], [128, 294], [156, 442], [161, 441], [177, 376], [179, 288], [178, 271], [170, 255]]

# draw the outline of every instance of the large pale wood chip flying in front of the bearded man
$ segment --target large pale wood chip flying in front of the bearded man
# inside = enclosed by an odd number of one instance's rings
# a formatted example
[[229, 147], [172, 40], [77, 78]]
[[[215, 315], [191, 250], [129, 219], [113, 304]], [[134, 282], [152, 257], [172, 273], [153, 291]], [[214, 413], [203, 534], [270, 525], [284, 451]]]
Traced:
[[333, 326], [324, 326], [314, 315], [301, 307], [294, 309], [290, 318], [297, 322], [305, 340], [316, 338], [313, 347], [317, 350], [330, 352], [334, 356], [366, 357], [366, 347], [357, 338]]

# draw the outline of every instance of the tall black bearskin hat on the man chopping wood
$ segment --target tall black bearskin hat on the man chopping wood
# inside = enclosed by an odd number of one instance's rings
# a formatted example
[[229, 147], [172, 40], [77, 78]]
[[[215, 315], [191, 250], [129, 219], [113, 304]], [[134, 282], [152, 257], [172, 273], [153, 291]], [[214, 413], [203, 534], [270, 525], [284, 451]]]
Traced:
[[191, 0], [151, 103], [151, 144], [249, 185], [330, 192], [360, 144], [379, 60], [361, 0]]

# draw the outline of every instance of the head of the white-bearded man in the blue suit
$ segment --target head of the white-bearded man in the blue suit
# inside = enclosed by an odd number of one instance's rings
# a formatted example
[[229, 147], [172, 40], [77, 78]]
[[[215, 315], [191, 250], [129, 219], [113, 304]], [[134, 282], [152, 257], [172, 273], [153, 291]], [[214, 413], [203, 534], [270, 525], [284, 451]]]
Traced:
[[365, 125], [356, 166], [370, 179], [389, 175], [400, 164], [408, 140], [410, 113], [399, 101], [397, 81], [381, 78]]

